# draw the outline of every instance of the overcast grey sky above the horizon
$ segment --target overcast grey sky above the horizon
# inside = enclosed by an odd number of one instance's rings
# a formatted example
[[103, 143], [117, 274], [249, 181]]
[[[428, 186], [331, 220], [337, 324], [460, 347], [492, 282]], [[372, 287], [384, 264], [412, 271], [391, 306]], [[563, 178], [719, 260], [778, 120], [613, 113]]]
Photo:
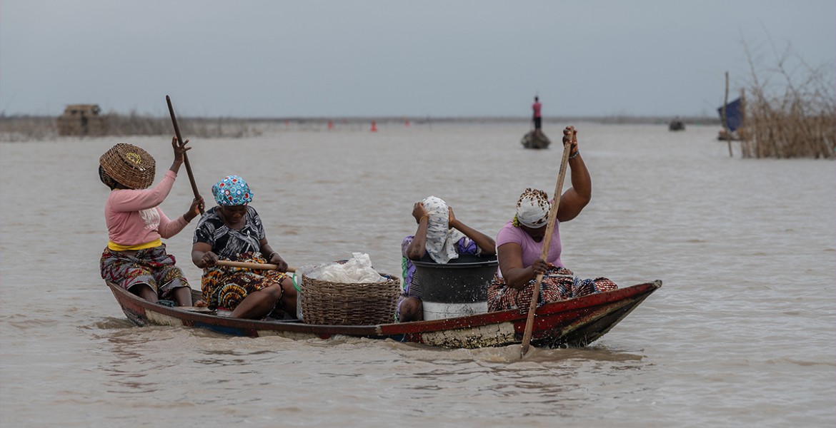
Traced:
[[724, 73], [836, 61], [833, 0], [0, 0], [0, 112], [714, 115]]

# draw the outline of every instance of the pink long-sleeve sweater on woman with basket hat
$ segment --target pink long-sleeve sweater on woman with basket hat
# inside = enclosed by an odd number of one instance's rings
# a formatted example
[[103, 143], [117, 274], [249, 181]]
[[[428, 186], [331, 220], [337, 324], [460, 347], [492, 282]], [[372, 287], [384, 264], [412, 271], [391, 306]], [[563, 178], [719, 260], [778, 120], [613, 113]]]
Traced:
[[104, 220], [107, 223], [109, 247], [138, 246], [160, 238], [171, 238], [186, 227], [188, 222], [181, 215], [170, 220], [159, 205], [166, 199], [177, 174], [166, 171], [160, 184], [151, 189], [115, 189], [104, 203]]

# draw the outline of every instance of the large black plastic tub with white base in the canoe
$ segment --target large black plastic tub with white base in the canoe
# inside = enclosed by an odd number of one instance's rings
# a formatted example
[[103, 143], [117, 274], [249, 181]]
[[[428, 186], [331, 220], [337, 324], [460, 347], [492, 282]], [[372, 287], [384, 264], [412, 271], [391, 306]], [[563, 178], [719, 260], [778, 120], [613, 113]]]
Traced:
[[497, 256], [460, 254], [446, 264], [429, 257], [412, 263], [412, 282], [421, 287], [424, 320], [487, 312], [487, 286], [497, 272]]

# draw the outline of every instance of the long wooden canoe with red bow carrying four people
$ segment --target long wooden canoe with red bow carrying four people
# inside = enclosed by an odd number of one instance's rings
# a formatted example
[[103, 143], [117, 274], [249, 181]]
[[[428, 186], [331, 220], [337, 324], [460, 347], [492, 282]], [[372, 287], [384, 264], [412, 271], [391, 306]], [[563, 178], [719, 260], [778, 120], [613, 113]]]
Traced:
[[[206, 308], [150, 303], [120, 286], [107, 283], [128, 319], [136, 325], [198, 327], [227, 335], [291, 339], [328, 339], [334, 335], [392, 339], [445, 348], [482, 348], [521, 343], [526, 313], [502, 310], [483, 314], [382, 325], [310, 325], [298, 320], [242, 320], [214, 315]], [[606, 334], [650, 294], [660, 280], [540, 306], [534, 319], [532, 345], [586, 346]], [[192, 290], [196, 298], [200, 292]]]

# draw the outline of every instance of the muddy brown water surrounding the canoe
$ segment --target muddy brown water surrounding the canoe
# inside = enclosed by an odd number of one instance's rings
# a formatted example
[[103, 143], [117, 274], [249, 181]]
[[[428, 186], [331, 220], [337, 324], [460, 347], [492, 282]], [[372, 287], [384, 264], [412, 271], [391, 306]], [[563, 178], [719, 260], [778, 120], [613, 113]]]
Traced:
[[[522, 360], [518, 346], [135, 327], [98, 267], [108, 190], [96, 168], [122, 140], [0, 143], [0, 425], [836, 424], [834, 163], [730, 159], [711, 126], [573, 124], [594, 191], [561, 225], [563, 261], [664, 286], [589, 347]], [[192, 139], [189, 156], [206, 199], [226, 174], [247, 179], [292, 265], [356, 251], [400, 274], [427, 195], [495, 235], [523, 189], [553, 192], [561, 152], [523, 149], [527, 123], [378, 129], [277, 126]], [[171, 164], [169, 139], [125, 141]], [[183, 169], [162, 207], [173, 217], [190, 199]], [[193, 227], [166, 243], [197, 288]]]

